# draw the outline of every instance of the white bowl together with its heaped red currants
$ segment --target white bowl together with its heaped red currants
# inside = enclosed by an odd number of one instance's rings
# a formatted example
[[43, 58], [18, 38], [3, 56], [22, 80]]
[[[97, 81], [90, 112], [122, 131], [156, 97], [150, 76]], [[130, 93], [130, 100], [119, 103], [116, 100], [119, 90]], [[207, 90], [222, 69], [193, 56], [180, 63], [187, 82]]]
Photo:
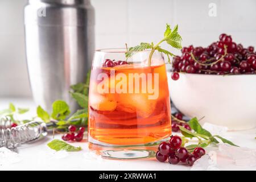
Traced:
[[256, 52], [221, 34], [208, 47], [183, 47], [169, 73], [171, 100], [188, 117], [245, 130], [256, 127]]

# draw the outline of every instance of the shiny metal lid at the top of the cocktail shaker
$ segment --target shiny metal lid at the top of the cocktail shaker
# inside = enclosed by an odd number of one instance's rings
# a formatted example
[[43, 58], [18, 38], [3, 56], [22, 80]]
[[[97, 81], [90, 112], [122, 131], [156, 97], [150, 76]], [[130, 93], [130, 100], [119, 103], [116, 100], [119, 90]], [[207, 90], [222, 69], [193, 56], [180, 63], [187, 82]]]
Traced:
[[24, 8], [24, 23], [41, 26], [94, 25], [90, 0], [29, 0]]

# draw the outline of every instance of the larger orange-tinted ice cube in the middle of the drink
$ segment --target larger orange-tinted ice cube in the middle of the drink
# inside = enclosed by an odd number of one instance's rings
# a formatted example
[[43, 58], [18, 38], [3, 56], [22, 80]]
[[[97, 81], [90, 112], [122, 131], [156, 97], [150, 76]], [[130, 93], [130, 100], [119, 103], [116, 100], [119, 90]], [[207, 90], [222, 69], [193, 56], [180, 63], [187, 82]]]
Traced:
[[118, 94], [117, 109], [128, 113], [135, 113], [142, 117], [149, 117], [155, 110], [156, 100], [148, 100], [148, 94]]

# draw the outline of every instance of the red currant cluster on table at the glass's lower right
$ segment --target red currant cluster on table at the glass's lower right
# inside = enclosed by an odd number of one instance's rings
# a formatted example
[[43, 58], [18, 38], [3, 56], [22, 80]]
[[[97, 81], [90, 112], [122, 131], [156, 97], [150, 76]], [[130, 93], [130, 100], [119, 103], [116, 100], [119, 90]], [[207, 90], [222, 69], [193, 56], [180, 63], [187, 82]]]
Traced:
[[188, 166], [193, 166], [193, 163], [205, 155], [204, 148], [196, 147], [192, 153], [189, 153], [185, 147], [181, 147], [182, 140], [179, 136], [172, 136], [170, 141], [160, 143], [156, 152], [156, 159], [159, 162], [165, 162], [168, 159], [170, 164], [179, 162], [185, 163]]

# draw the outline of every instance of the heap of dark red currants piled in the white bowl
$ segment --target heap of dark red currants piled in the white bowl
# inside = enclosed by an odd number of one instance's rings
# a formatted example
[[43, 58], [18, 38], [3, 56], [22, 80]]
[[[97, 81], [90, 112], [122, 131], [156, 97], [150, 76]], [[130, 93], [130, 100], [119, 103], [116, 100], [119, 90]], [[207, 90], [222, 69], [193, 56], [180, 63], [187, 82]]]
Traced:
[[217, 42], [208, 47], [183, 47], [182, 55], [172, 62], [172, 79], [178, 80], [179, 73], [200, 74], [255, 74], [256, 52], [254, 47], [244, 48], [232, 41], [230, 35], [221, 34]]

